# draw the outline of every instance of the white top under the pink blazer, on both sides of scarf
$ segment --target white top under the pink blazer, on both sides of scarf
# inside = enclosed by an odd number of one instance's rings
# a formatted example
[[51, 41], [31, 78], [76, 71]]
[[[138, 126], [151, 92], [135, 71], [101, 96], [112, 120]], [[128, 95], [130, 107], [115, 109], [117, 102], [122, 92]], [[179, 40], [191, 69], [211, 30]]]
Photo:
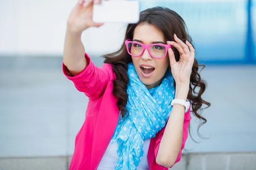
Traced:
[[[150, 139], [147, 139], [143, 143], [143, 157], [140, 161], [139, 166], [137, 167], [137, 170], [148, 170], [148, 147], [150, 144]], [[116, 161], [118, 159], [118, 154], [117, 154], [117, 142], [113, 144], [109, 144], [108, 148], [99, 164], [99, 167], [97, 170], [114, 170]]]

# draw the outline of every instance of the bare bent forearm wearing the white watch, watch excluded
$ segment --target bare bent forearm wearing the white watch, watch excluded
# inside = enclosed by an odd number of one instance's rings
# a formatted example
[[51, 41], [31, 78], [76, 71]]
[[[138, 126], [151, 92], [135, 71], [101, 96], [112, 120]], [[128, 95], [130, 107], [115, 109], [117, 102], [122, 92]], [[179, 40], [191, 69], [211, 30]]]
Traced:
[[[186, 100], [189, 85], [176, 86], [175, 99]], [[166, 125], [157, 153], [157, 162], [165, 167], [171, 167], [180, 153], [183, 138], [183, 122], [185, 107], [179, 104], [173, 105], [172, 112]]]

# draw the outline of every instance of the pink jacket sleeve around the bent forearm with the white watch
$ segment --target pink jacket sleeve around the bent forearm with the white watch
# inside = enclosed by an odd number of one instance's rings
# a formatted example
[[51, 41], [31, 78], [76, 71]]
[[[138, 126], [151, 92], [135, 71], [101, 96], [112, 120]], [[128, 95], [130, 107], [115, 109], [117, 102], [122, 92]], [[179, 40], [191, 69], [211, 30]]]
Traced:
[[[188, 130], [189, 130], [190, 120], [191, 120], [191, 115], [190, 115], [190, 108], [189, 108], [189, 111], [186, 112], [185, 116], [184, 116], [182, 144], [181, 144], [180, 153], [179, 153], [179, 155], [178, 155], [178, 157], [177, 157], [177, 159], [175, 161], [175, 164], [177, 162], [179, 162], [180, 159], [181, 159], [182, 150], [183, 150], [183, 148], [185, 146], [186, 139], [188, 138]], [[160, 132], [160, 134], [158, 136], [158, 139], [157, 139], [157, 142], [156, 142], [156, 145], [155, 145], [155, 150], [154, 150], [155, 157], [157, 157], [158, 149], [159, 149], [159, 146], [160, 146], [161, 139], [163, 137], [164, 130], [165, 130], [165, 127], [161, 130], [161, 132]]]

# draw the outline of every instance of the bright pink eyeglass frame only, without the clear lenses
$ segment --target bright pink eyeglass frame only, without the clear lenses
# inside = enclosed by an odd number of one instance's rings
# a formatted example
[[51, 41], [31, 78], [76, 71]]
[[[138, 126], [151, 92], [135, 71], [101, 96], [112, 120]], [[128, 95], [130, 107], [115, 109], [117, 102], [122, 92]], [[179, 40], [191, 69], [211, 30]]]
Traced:
[[[172, 45], [168, 45], [168, 44], [148, 44], [148, 45], [144, 45], [144, 44], [142, 44], [142, 43], [140, 43], [140, 42], [137, 42], [137, 41], [130, 41], [130, 40], [131, 40], [131, 39], [125, 40], [125, 45], [126, 45], [126, 49], [127, 49], [128, 54], [130, 54], [131, 56], [134, 56], [134, 57], [140, 57], [140, 56], [144, 53], [145, 49], [147, 49], [147, 50], [148, 50], [148, 53], [150, 54], [151, 57], [156, 58], [156, 59], [161, 59], [161, 58], [166, 57], [166, 54], [167, 54], [167, 52], [168, 52], [168, 49], [169, 49], [169, 48], [172, 48]], [[136, 42], [137, 44], [140, 44], [140, 45], [143, 47], [143, 50], [142, 50], [142, 52], [141, 52], [140, 55], [133, 55], [133, 54], [131, 54], [131, 53], [129, 52], [129, 46], [128, 46], [128, 45], [129, 45], [129, 43], [131, 43], [131, 42]], [[149, 49], [149, 47], [150, 47], [151, 45], [161, 45], [161, 46], [164, 46], [164, 47], [166, 48], [166, 54], [165, 54], [163, 57], [154, 57], [154, 56], [151, 54], [150, 49]]]

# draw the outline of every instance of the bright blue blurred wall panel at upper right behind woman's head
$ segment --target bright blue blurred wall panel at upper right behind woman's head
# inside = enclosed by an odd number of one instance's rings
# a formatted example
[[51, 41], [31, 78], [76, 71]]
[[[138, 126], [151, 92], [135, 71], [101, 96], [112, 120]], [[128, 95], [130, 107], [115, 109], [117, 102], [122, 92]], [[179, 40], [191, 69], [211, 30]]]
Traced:
[[[256, 0], [253, 1], [255, 3]], [[200, 62], [252, 62], [247, 56], [247, 0], [141, 0], [141, 10], [154, 6], [166, 6], [183, 17], [195, 42], [196, 58]]]

